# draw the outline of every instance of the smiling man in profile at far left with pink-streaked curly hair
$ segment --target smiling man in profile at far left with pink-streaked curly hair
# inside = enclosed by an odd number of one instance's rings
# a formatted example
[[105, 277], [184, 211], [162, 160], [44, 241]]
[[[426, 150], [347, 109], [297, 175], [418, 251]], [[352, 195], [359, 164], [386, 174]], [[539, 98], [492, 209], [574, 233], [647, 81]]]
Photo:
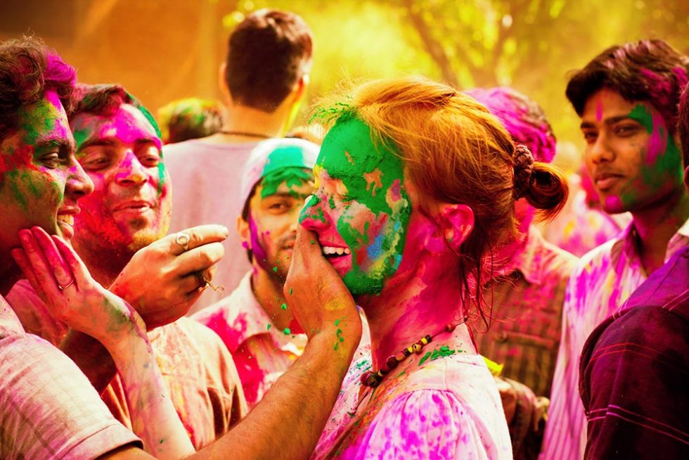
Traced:
[[18, 232], [71, 236], [93, 184], [74, 157], [65, 106], [76, 74], [37, 39], [0, 43], [0, 458], [95, 458], [139, 439], [77, 366], [27, 333], [3, 298], [20, 278]]

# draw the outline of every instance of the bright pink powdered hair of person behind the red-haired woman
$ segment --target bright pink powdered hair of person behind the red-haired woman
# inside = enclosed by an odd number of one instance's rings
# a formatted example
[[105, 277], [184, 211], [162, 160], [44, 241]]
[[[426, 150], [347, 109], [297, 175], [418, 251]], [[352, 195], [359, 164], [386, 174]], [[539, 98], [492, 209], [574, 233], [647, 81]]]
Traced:
[[498, 117], [513, 141], [527, 146], [536, 161], [553, 161], [557, 139], [538, 103], [510, 87], [476, 88], [465, 93]]

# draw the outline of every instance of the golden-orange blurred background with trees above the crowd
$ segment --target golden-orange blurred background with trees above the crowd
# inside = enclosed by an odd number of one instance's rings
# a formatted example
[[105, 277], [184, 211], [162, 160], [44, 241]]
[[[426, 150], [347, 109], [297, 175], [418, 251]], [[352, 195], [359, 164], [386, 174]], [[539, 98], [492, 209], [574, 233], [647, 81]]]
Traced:
[[567, 169], [583, 144], [568, 71], [640, 38], [689, 53], [687, 0], [1, 0], [0, 39], [41, 37], [80, 81], [123, 84], [155, 113], [179, 98], [220, 98], [228, 33], [264, 7], [295, 11], [314, 31], [309, 101], [343, 78], [510, 85], [546, 110]]

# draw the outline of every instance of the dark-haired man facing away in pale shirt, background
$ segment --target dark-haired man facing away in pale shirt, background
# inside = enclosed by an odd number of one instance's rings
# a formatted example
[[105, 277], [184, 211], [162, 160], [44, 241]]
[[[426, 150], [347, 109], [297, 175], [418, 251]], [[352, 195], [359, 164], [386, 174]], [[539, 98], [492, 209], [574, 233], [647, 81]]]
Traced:
[[[311, 30], [294, 13], [255, 11], [233, 30], [220, 69], [227, 106], [223, 129], [164, 149], [175, 185], [172, 231], [234, 224], [243, 205], [239, 185], [245, 162], [259, 141], [282, 137], [290, 128], [309, 83], [312, 49]], [[226, 250], [216, 279], [231, 288], [250, 264], [236, 234], [228, 238]], [[195, 307], [222, 297], [219, 291], [206, 290]]]

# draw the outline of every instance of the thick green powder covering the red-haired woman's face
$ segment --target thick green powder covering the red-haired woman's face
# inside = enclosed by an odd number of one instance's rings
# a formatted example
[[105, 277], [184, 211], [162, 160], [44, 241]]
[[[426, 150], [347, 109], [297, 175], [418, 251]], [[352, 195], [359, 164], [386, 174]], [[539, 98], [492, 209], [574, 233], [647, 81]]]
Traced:
[[[385, 279], [399, 267], [411, 215], [411, 201], [404, 189], [404, 164], [397, 146], [389, 139], [374, 144], [371, 128], [348, 115], [328, 132], [316, 165], [331, 179], [342, 181], [348, 201], [367, 207], [377, 222], [384, 222], [375, 233], [371, 231], [372, 222], [366, 222], [362, 232], [352, 225], [355, 216], [345, 205], [336, 223], [337, 232], [353, 255], [352, 269], [343, 277], [345, 285], [355, 295], [378, 293]], [[321, 207], [311, 208], [302, 213], [302, 219], [305, 215], [318, 219], [318, 212], [322, 214]]]

